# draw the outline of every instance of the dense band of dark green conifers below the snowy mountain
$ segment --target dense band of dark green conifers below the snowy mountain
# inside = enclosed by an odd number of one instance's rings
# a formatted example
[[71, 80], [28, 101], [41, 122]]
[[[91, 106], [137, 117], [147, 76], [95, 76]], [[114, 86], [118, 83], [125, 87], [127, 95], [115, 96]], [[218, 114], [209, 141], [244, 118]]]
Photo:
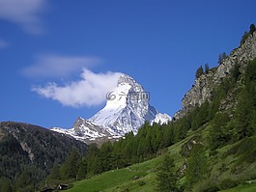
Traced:
[[114, 143], [106, 142], [100, 147], [91, 144], [86, 156], [73, 149], [62, 165], [55, 165], [49, 180], [91, 178], [102, 172], [120, 169], [156, 157], [166, 147], [185, 138], [180, 123], [145, 123], [138, 131], [126, 134]]

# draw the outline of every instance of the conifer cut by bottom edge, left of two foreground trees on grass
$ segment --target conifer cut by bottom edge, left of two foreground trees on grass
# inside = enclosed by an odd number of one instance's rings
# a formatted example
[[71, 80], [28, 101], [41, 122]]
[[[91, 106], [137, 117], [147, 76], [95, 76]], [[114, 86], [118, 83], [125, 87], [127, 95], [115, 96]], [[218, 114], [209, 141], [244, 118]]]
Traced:
[[177, 191], [177, 180], [174, 159], [165, 154], [156, 171], [156, 189], [161, 192]]

